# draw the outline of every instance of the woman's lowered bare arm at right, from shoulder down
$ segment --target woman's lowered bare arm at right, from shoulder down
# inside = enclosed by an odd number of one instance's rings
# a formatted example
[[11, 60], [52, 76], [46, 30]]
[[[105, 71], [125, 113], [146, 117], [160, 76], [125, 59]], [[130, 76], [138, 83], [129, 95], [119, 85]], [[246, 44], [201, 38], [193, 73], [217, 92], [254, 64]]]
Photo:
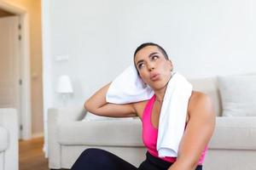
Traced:
[[206, 94], [194, 93], [189, 99], [189, 122], [179, 144], [177, 161], [168, 170], [195, 170], [202, 151], [212, 137], [215, 111]]

